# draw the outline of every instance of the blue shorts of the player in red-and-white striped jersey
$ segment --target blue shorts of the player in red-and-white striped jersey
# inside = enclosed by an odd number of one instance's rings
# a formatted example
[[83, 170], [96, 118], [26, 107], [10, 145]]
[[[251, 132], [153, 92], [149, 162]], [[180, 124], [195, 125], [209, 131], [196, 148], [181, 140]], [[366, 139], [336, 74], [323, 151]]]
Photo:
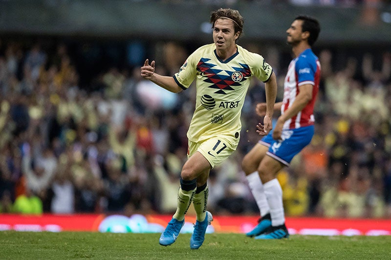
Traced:
[[314, 129], [313, 125], [309, 125], [297, 129], [282, 130], [282, 140], [274, 140], [272, 130], [259, 143], [269, 147], [267, 155], [289, 166], [293, 157], [311, 142]]

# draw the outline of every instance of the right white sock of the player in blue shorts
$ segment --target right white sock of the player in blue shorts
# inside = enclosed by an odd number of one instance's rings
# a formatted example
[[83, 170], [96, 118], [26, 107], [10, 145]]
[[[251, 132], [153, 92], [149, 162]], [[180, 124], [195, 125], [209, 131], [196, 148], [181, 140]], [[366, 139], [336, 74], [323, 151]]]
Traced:
[[282, 189], [277, 179], [263, 184], [267, 202], [270, 206], [272, 226], [280, 226], [285, 223], [284, 207], [282, 204]]

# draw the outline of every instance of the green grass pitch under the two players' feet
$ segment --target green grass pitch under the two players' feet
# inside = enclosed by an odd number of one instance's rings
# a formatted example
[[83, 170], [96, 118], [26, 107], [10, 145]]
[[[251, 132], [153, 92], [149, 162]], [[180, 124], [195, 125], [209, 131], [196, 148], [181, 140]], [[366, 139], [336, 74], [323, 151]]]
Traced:
[[0, 232], [0, 259], [391, 259], [391, 236], [301, 236], [254, 240], [244, 234], [207, 234], [198, 250], [190, 234], [171, 246], [160, 234]]

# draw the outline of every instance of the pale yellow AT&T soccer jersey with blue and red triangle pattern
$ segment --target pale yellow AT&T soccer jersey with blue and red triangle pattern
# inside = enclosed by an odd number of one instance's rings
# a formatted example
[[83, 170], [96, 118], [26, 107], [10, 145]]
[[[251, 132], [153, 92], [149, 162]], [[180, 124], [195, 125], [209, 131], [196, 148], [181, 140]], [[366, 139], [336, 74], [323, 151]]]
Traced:
[[187, 89], [196, 79], [195, 112], [187, 137], [194, 142], [216, 136], [231, 136], [239, 142], [240, 114], [251, 76], [265, 82], [272, 67], [263, 57], [237, 45], [238, 50], [222, 61], [214, 43], [192, 53], [174, 75], [174, 80]]

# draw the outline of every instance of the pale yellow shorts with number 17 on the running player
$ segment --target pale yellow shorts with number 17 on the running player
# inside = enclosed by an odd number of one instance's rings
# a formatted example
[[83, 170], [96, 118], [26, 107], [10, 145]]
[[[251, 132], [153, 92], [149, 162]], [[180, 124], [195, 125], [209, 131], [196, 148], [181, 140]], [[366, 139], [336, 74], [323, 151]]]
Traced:
[[238, 147], [238, 140], [231, 137], [213, 137], [200, 142], [189, 140], [187, 158], [196, 151], [200, 152], [209, 161], [212, 168], [227, 159]]

